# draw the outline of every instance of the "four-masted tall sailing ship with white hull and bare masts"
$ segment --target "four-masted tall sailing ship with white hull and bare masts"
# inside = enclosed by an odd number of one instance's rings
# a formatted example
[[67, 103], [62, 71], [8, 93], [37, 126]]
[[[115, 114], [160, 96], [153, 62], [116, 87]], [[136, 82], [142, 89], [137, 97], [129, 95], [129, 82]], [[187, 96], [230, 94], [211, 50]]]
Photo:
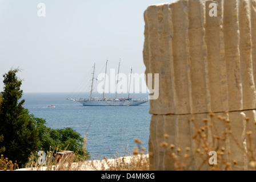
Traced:
[[[118, 75], [119, 75], [120, 62], [121, 61], [119, 61], [119, 65], [118, 65]], [[107, 61], [106, 61], [106, 70], [105, 70], [105, 78], [104, 78], [103, 96], [102, 96], [102, 98], [92, 97], [91, 94], [93, 92], [94, 71], [95, 71], [95, 63], [93, 66], [93, 78], [91, 79], [90, 98], [80, 98], [79, 100], [67, 98], [67, 100], [80, 102], [83, 106], [138, 106], [138, 105], [144, 104], [145, 102], [148, 102], [148, 100], [146, 100], [146, 99], [141, 100], [140, 98], [130, 97], [131, 79], [130, 79], [130, 83], [129, 83], [128, 97], [127, 98], [117, 98], [118, 75], [117, 75], [117, 85], [116, 85], [116, 89], [115, 89], [115, 98], [106, 98], [105, 97], [105, 81], [106, 81]], [[132, 73], [132, 71], [133, 71], [133, 69], [131, 68], [131, 73]]]

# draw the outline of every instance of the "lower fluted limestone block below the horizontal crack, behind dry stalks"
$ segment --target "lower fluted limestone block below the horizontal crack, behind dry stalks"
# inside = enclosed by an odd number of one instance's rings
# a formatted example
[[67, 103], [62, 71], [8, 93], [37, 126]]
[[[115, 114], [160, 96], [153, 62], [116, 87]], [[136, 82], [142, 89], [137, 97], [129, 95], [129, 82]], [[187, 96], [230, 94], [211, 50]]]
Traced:
[[[246, 121], [246, 118], [250, 118], [249, 121]], [[181, 150], [179, 155], [182, 156], [189, 147], [188, 154], [191, 158], [188, 161], [191, 164], [187, 169], [206, 170], [209, 169], [209, 152], [221, 151], [221, 148], [225, 148], [223, 154], [220, 154], [223, 155], [221, 158], [231, 164], [235, 160], [238, 164], [233, 165], [233, 169], [246, 170], [250, 159], [246, 158], [245, 151], [250, 153], [254, 150], [256, 143], [256, 133], [253, 132], [250, 135], [251, 144], [246, 133], [255, 131], [255, 123], [255, 110], [216, 113], [214, 117], [210, 117], [210, 114], [153, 115], [149, 138], [150, 163], [153, 164], [153, 169], [174, 170], [174, 164], [170, 160], [171, 153], [177, 154], [177, 148], [179, 148]], [[201, 131], [202, 128], [204, 128], [203, 131]], [[201, 131], [200, 134], [198, 130]], [[169, 137], [165, 138], [164, 134], [168, 134]], [[208, 147], [201, 145], [204, 143], [203, 134], [206, 135]], [[195, 135], [197, 135], [196, 138]], [[167, 147], [161, 146], [163, 142], [167, 143]], [[175, 146], [174, 150], [170, 150], [171, 144]], [[205, 148], [207, 151], [204, 151]], [[198, 149], [200, 152], [197, 154]], [[203, 159], [207, 161], [203, 163]]]

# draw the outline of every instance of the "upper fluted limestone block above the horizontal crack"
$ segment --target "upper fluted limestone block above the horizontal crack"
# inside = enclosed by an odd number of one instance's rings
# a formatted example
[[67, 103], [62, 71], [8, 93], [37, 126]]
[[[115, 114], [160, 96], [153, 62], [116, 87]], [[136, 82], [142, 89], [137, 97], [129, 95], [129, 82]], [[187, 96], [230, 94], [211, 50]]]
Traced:
[[[209, 16], [209, 4], [218, 15]], [[177, 1], [145, 11], [146, 73], [159, 73], [151, 114], [255, 107], [255, 1]], [[169, 98], [166, 100], [166, 98]]]

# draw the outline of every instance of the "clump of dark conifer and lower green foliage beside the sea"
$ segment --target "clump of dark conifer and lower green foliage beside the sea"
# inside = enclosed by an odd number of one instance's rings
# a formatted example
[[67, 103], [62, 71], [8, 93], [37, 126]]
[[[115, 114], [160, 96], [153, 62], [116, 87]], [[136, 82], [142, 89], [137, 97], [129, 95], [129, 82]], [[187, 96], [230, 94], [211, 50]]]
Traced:
[[22, 105], [22, 80], [16, 76], [19, 69], [3, 75], [4, 90], [0, 93], [0, 154], [16, 161], [21, 167], [31, 152], [51, 148], [78, 151], [79, 155], [90, 158], [83, 150], [83, 138], [71, 128], [51, 129], [45, 119], [36, 118]]

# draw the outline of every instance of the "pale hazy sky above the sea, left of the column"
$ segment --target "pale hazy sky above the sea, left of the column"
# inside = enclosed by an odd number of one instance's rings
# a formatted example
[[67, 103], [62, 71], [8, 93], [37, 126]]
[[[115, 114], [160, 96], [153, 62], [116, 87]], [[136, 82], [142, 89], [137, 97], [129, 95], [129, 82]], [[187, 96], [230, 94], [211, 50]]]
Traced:
[[[20, 68], [23, 92], [74, 92], [83, 79], [108, 68], [144, 73], [143, 13], [165, 0], [0, 0], [2, 75]], [[45, 3], [46, 16], [38, 16]], [[79, 90], [81, 91], [81, 90]]]

